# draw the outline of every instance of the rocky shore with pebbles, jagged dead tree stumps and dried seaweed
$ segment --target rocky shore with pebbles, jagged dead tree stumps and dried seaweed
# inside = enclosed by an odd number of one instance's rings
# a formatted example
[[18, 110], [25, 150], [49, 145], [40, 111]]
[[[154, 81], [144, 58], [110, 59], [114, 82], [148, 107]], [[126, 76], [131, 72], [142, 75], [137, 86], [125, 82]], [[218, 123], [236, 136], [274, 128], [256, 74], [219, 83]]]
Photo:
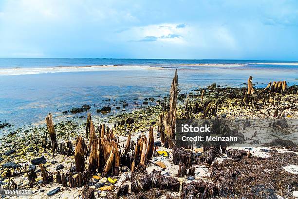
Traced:
[[[290, 127], [298, 119], [297, 85], [272, 82], [247, 94], [246, 85], [223, 88], [213, 83], [184, 93], [178, 92], [178, 79], [176, 83], [174, 77], [169, 95], [111, 101], [115, 109], [120, 107], [117, 114], [82, 104], [65, 113], [69, 117], [62, 121], [45, 115], [51, 120], [47, 124], [14, 131], [3, 123], [1, 187], [30, 189], [27, 198], [296, 197], [298, 135], [292, 131], [297, 126]], [[246, 145], [176, 146], [167, 129], [171, 117], [238, 120], [240, 127], [231, 132]], [[243, 135], [244, 128], [258, 127], [248, 125], [247, 118], [272, 119], [270, 128], [286, 133], [272, 136], [261, 127], [255, 135]], [[263, 137], [271, 139], [260, 143]]]

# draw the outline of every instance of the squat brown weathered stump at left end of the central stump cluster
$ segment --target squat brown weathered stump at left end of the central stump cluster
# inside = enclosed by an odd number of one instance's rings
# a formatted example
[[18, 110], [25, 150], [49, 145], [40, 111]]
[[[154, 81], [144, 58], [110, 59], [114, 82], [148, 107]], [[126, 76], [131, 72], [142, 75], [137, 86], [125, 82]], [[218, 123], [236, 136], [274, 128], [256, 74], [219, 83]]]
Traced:
[[84, 139], [78, 137], [75, 143], [75, 171], [83, 172], [85, 170], [85, 147]]

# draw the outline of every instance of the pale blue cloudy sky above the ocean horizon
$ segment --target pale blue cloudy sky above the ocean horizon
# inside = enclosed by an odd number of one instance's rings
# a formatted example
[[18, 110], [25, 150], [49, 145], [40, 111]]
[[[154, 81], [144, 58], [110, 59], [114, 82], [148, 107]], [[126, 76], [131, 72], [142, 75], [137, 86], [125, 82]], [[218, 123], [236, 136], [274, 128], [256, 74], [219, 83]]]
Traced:
[[0, 0], [0, 57], [298, 60], [298, 1]]

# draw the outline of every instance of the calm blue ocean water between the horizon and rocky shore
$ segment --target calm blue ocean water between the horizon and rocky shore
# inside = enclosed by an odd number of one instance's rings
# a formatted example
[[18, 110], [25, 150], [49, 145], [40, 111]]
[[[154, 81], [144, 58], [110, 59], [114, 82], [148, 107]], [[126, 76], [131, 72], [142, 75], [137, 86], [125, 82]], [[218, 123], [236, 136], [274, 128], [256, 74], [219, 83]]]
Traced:
[[56, 119], [72, 118], [62, 112], [83, 104], [106, 117], [96, 109], [109, 105], [112, 114], [120, 100], [133, 104], [136, 98], [167, 95], [175, 69], [180, 93], [214, 82], [241, 87], [250, 75], [256, 87], [278, 80], [298, 84], [295, 61], [0, 58], [0, 121], [38, 125], [49, 112]]

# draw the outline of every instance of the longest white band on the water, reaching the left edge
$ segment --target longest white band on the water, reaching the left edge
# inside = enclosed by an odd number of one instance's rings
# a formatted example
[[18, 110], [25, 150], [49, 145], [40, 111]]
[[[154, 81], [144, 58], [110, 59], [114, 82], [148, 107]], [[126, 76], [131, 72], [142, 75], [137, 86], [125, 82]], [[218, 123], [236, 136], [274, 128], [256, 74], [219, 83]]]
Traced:
[[45, 68], [2, 68], [0, 76], [35, 75], [44, 73], [90, 72], [90, 71], [124, 71], [146, 70], [152, 67], [143, 65], [100, 65], [100, 66], [56, 66]]

